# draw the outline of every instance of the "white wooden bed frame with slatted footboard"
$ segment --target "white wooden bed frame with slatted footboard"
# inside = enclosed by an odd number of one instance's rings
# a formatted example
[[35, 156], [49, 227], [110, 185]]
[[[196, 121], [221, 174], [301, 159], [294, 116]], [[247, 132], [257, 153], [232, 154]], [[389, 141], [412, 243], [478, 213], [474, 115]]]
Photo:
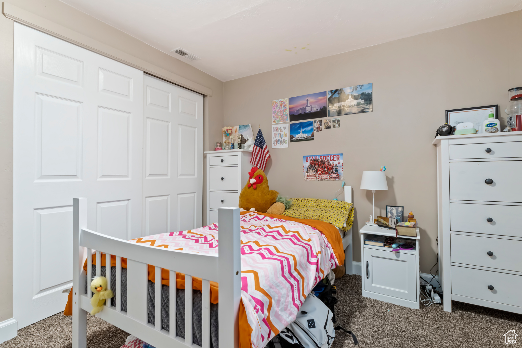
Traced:
[[[351, 202], [351, 187], [345, 187], [345, 200]], [[192, 292], [185, 292], [185, 339], [176, 335], [176, 301], [170, 301], [170, 332], [161, 329], [161, 268], [185, 273], [185, 289], [192, 289], [192, 277], [203, 279], [203, 348], [210, 348], [210, 281], [219, 283], [219, 346], [239, 346], [238, 312], [241, 299], [240, 209], [220, 208], [218, 211], [219, 248], [230, 250], [219, 256], [184, 253], [179, 250], [140, 245], [90, 231], [87, 226], [87, 198], [73, 199], [73, 348], [87, 347], [87, 313], [92, 310], [91, 291], [85, 293], [87, 274], [92, 274], [92, 250], [96, 250], [96, 265], [116, 255], [116, 284], [121, 284], [122, 257], [127, 259], [127, 311], [122, 311], [121, 286], [116, 287], [116, 307], [113, 299], [105, 301], [98, 314], [101, 319], [129, 332], [157, 348], [198, 347], [192, 342]], [[346, 256], [346, 273], [353, 272], [352, 230], [342, 239]], [[87, 249], [87, 250], [86, 250]], [[84, 262], [87, 257], [87, 272]], [[156, 267], [156, 322], [148, 323], [147, 289], [148, 266]], [[101, 267], [96, 267], [101, 275]], [[106, 272], [108, 287], [111, 272]], [[171, 283], [172, 284], [172, 283]], [[176, 286], [170, 286], [170, 298], [176, 298]]]

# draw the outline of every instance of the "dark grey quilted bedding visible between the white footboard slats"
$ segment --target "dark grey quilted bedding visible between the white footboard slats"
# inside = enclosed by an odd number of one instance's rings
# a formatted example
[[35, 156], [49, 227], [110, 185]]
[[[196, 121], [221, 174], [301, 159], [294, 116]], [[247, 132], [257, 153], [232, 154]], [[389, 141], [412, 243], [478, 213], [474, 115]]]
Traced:
[[[105, 266], [101, 267], [101, 275], [105, 277]], [[96, 265], [92, 265], [92, 278], [96, 277]], [[90, 283], [90, 282], [89, 282]], [[156, 290], [155, 283], [148, 281], [147, 309], [148, 321], [156, 323]], [[111, 289], [114, 292], [111, 306], [116, 306], [116, 267], [111, 267]], [[87, 284], [85, 286], [87, 292]], [[161, 285], [161, 328], [169, 331], [169, 303], [170, 291], [168, 285]], [[203, 295], [199, 290], [192, 291], [192, 340], [195, 344], [202, 342], [202, 314]], [[127, 269], [122, 268], [122, 310], [127, 311]], [[210, 304], [210, 346], [218, 348], [218, 313], [219, 304]], [[176, 292], [176, 334], [185, 338], [185, 290], [177, 289]]]

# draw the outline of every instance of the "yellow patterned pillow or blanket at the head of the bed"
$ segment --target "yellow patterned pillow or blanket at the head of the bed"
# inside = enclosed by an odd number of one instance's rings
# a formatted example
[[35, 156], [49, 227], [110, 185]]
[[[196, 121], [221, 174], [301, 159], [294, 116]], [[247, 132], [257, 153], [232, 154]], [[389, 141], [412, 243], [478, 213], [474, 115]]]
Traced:
[[[353, 203], [340, 200], [316, 198], [291, 198], [292, 206], [283, 215], [298, 219], [312, 219], [328, 222], [343, 231], [348, 231], [353, 223]], [[346, 221], [346, 226], [343, 226]]]

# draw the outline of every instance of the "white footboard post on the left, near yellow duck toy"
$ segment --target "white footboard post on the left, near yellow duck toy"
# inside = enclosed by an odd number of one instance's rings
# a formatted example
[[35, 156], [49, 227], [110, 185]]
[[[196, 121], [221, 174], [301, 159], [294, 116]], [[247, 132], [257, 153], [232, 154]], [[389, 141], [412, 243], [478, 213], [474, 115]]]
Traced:
[[87, 228], [87, 198], [73, 198], [73, 348], [87, 347], [87, 311], [80, 307], [86, 277], [82, 277], [84, 248], [80, 231]]

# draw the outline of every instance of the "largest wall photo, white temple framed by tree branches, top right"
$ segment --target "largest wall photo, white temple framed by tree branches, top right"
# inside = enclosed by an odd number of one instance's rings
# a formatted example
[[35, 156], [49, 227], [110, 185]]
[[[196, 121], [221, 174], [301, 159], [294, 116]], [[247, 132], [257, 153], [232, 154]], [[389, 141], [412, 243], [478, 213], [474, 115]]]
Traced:
[[373, 111], [373, 84], [333, 89], [328, 95], [328, 117]]

